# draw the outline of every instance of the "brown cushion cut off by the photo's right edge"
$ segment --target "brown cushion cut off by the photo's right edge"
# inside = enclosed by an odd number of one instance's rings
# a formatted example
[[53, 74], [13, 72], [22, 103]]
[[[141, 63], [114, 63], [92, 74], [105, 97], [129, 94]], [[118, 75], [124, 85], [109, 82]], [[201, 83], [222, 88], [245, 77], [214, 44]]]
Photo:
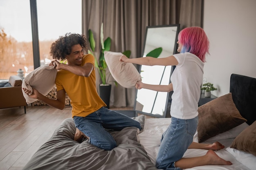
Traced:
[[230, 148], [243, 150], [256, 156], [256, 121], [236, 137]]

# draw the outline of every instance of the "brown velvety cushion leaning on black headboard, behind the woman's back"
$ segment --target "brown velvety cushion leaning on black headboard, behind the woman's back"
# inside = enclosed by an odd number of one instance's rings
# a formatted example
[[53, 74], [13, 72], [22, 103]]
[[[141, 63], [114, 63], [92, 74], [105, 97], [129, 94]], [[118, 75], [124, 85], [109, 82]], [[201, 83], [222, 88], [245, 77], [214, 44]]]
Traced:
[[198, 119], [199, 143], [247, 121], [236, 108], [231, 93], [200, 106]]

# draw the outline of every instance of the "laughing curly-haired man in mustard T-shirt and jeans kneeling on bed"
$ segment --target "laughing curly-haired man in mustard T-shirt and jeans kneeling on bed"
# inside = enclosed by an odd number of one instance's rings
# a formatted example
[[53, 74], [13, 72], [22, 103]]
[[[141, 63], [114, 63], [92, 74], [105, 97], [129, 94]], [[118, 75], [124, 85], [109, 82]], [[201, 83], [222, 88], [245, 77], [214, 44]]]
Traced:
[[[81, 142], [87, 137], [89, 142], [104, 150], [112, 150], [116, 141], [106, 129], [122, 130], [134, 126], [141, 129], [138, 121], [113, 110], [105, 108], [106, 104], [99, 97], [96, 88], [94, 56], [88, 54], [85, 35], [66, 33], [52, 43], [50, 54], [58, 70], [56, 76], [57, 99], [49, 99], [33, 89], [29, 97], [39, 99], [49, 106], [63, 109], [65, 94], [70, 97], [72, 117], [76, 125], [74, 140]], [[67, 60], [67, 64], [58, 62]], [[31, 93], [24, 89], [28, 95]]]

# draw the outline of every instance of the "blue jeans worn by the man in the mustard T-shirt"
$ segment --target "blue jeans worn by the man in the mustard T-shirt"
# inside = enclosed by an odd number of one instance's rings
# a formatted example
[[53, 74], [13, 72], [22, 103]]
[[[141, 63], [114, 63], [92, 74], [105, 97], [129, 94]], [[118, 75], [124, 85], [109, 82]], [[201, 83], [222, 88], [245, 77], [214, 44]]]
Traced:
[[117, 146], [115, 139], [105, 129], [122, 130], [134, 126], [141, 129], [138, 121], [107, 108], [100, 108], [86, 117], [74, 117], [76, 128], [90, 137], [90, 143], [104, 150]]

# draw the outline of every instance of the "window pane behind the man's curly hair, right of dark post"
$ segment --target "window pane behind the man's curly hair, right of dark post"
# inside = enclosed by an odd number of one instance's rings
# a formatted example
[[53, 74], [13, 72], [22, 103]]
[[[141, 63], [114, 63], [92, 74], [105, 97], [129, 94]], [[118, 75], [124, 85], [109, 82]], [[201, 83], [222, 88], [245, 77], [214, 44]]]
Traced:
[[82, 32], [81, 0], [37, 0], [40, 65], [52, 60], [50, 46], [65, 33]]

